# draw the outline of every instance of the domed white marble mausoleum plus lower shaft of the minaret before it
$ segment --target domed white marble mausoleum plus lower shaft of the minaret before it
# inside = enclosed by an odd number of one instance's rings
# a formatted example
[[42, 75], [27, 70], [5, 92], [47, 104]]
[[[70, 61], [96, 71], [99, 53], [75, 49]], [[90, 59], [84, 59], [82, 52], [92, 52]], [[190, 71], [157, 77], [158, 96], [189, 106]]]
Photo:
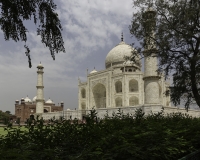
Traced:
[[134, 48], [123, 41], [107, 54], [105, 70], [95, 69], [87, 75], [87, 81], [79, 80], [79, 109], [113, 108], [138, 105], [170, 106], [165, 96], [169, 83], [158, 75], [157, 58], [145, 58], [144, 73], [139, 56], [135, 63], [125, 61]]

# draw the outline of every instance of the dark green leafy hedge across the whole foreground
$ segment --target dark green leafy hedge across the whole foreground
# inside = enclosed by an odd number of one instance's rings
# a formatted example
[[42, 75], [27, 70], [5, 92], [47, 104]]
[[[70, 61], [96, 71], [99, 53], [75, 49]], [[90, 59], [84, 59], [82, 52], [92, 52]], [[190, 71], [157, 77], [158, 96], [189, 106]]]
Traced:
[[181, 113], [144, 116], [120, 110], [99, 120], [96, 112], [78, 120], [29, 120], [27, 130], [8, 128], [0, 138], [3, 159], [177, 160], [200, 148], [200, 119]]

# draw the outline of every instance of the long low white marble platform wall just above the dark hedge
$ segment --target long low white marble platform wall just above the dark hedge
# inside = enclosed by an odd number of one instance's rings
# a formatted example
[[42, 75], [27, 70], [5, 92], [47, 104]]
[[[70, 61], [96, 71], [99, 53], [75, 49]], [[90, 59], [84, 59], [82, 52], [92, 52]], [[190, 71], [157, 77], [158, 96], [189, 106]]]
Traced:
[[[145, 115], [158, 113], [163, 110], [164, 115], [171, 113], [183, 113], [188, 114], [192, 117], [200, 117], [200, 110], [189, 109], [188, 112], [184, 108], [177, 107], [167, 107], [163, 105], [136, 105], [136, 106], [127, 106], [127, 107], [112, 107], [112, 108], [99, 108], [96, 109], [98, 118], [105, 118], [106, 115], [112, 116], [113, 113], [117, 113], [119, 110], [123, 112], [123, 114], [135, 114], [137, 109], [141, 108]], [[60, 119], [63, 117], [65, 119], [78, 119], [82, 120], [85, 115], [88, 115], [91, 110], [65, 110], [60, 112], [50, 112], [50, 113], [42, 113], [39, 116], [44, 120], [49, 120], [51, 118]], [[38, 115], [38, 114], [35, 114]]]

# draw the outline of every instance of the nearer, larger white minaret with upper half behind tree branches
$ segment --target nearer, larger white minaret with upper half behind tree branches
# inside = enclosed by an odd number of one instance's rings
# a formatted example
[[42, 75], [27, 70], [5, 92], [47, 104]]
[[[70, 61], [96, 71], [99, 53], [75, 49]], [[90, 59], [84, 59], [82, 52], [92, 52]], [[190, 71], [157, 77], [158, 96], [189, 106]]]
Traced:
[[[160, 104], [159, 97], [159, 79], [157, 73], [157, 56], [156, 45], [153, 41], [155, 38], [156, 11], [149, 8], [143, 14], [143, 27], [145, 29], [144, 39], [144, 87], [145, 87], [145, 104]], [[150, 56], [149, 56], [150, 55]]]

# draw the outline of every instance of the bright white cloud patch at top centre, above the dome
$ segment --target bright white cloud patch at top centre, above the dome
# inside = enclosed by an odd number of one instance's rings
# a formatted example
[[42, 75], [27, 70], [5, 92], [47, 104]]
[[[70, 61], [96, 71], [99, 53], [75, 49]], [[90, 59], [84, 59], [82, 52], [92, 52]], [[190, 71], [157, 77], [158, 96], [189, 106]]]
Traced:
[[61, 0], [60, 3], [59, 13], [67, 32], [66, 46], [71, 41], [73, 43], [69, 44], [73, 50], [81, 48], [82, 51], [77, 59], [84, 59], [96, 50], [114, 45], [112, 36], [119, 38], [124, 25], [127, 26], [131, 20], [131, 0], [126, 3], [114, 0]]

